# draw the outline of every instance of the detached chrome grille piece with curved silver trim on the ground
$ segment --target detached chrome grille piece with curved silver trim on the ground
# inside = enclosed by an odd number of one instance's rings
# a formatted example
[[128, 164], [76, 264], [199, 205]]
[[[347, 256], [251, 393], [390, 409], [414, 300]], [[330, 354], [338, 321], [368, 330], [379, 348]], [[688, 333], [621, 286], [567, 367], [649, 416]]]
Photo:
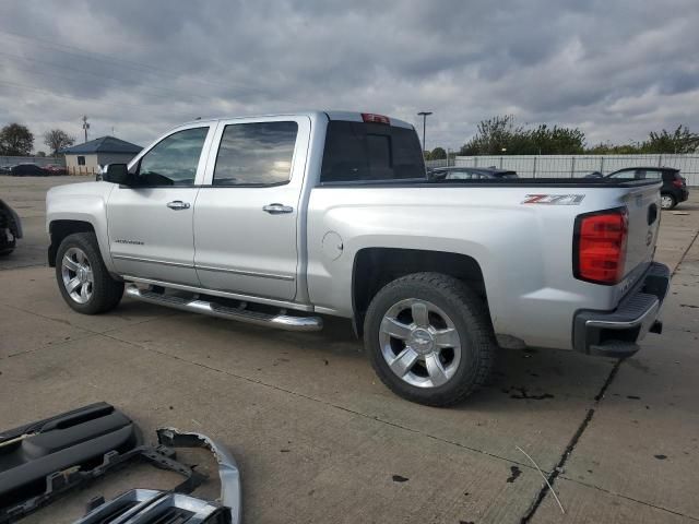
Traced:
[[132, 489], [109, 502], [94, 499], [88, 513], [75, 524], [239, 524], [240, 474], [233, 455], [201, 433], [175, 428], [157, 430], [161, 444], [173, 448], [206, 448], [218, 463], [220, 501], [212, 502], [173, 491]]

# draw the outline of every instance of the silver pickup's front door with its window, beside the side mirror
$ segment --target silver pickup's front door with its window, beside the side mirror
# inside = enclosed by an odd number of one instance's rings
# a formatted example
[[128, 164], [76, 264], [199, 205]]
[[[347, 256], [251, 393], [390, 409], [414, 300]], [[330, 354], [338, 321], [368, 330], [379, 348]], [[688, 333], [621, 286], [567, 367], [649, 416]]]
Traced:
[[111, 191], [109, 249], [121, 275], [199, 285], [192, 219], [213, 134], [200, 124], [164, 136], [131, 164], [129, 186]]

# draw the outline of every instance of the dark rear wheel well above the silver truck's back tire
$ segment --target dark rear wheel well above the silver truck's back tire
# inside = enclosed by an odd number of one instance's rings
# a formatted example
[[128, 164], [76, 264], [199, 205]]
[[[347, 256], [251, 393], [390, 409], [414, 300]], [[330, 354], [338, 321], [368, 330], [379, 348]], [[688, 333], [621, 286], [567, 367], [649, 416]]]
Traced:
[[367, 248], [357, 253], [352, 275], [355, 332], [362, 334], [364, 315], [379, 289], [401, 276], [422, 272], [442, 273], [464, 281], [487, 303], [483, 272], [472, 257], [417, 249]]

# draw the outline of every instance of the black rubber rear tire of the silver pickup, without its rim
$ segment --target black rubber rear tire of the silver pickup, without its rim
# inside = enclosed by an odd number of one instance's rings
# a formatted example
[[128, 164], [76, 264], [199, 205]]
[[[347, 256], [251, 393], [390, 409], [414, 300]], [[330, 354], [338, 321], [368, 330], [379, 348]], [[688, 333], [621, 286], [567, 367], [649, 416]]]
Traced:
[[[461, 359], [443, 384], [420, 388], [395, 374], [382, 355], [381, 322], [394, 305], [406, 299], [426, 300], [440, 308], [453, 323], [461, 342]], [[395, 394], [429, 406], [449, 406], [487, 383], [495, 364], [497, 343], [484, 301], [463, 282], [440, 273], [414, 273], [387, 284], [371, 300], [364, 323], [364, 343], [371, 366]]]

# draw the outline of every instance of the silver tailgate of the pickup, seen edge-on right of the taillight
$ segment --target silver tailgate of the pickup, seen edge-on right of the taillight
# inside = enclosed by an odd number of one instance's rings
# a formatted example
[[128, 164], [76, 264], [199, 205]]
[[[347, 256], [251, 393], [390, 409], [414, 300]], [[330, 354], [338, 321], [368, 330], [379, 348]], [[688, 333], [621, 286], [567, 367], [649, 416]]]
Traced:
[[633, 188], [625, 198], [629, 213], [625, 275], [644, 271], [653, 260], [660, 227], [660, 187], [661, 182]]

